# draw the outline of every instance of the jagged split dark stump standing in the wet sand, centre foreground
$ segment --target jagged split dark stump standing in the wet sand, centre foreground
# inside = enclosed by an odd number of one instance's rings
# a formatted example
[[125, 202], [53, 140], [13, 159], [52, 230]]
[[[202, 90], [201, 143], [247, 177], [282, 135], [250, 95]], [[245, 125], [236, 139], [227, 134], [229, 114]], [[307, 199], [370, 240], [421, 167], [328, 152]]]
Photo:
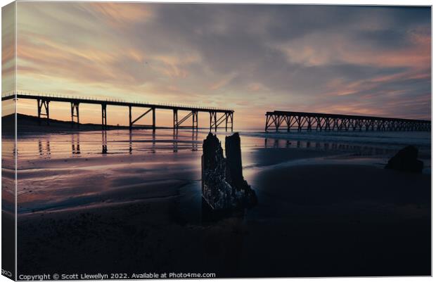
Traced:
[[213, 210], [241, 210], [255, 205], [255, 191], [242, 175], [239, 134], [226, 137], [226, 157], [217, 136], [208, 134], [201, 158], [203, 199]]

